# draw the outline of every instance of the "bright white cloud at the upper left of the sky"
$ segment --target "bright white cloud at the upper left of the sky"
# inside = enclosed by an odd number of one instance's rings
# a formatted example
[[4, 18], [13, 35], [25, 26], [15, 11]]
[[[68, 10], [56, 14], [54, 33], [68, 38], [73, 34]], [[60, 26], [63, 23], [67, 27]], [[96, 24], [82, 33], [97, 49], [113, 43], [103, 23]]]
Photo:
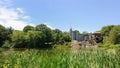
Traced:
[[5, 27], [13, 27], [16, 30], [22, 30], [26, 25], [34, 26], [32, 23], [28, 23], [30, 16], [25, 15], [23, 8], [9, 6], [11, 1], [0, 0], [0, 24]]

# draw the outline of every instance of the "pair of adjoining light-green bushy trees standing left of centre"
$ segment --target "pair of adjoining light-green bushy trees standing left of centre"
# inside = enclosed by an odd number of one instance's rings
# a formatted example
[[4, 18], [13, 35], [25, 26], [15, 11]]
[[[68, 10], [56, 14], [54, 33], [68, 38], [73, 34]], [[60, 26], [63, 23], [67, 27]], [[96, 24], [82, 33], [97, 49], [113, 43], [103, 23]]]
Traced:
[[45, 44], [45, 35], [40, 31], [14, 31], [12, 42], [15, 48], [37, 48]]

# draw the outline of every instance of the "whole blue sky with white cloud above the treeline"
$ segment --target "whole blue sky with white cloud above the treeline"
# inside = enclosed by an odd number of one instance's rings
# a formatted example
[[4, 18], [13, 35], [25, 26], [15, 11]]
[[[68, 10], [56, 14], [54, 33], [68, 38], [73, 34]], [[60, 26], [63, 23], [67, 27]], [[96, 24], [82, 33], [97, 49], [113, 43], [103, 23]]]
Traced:
[[120, 24], [120, 0], [0, 0], [0, 24], [16, 30], [46, 24], [62, 31], [95, 32]]

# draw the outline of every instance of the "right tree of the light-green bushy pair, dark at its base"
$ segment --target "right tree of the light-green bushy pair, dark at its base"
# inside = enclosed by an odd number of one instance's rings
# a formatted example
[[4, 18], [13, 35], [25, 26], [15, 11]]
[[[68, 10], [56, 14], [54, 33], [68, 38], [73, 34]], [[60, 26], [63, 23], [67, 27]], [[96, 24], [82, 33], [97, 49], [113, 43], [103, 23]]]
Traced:
[[45, 44], [45, 35], [41, 31], [29, 31], [27, 35], [29, 37], [29, 48], [37, 48]]

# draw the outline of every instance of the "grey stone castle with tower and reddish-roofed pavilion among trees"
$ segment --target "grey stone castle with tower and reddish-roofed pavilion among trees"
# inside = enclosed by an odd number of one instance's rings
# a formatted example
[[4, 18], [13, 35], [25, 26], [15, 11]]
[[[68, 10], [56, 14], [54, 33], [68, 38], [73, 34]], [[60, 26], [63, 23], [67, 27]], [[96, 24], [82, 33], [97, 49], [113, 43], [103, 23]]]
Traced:
[[95, 39], [97, 42], [102, 41], [102, 34], [100, 32], [94, 32], [90, 35], [83, 35], [79, 34], [79, 31], [70, 29], [70, 37], [71, 40], [77, 40], [77, 41], [88, 41], [91, 39]]

